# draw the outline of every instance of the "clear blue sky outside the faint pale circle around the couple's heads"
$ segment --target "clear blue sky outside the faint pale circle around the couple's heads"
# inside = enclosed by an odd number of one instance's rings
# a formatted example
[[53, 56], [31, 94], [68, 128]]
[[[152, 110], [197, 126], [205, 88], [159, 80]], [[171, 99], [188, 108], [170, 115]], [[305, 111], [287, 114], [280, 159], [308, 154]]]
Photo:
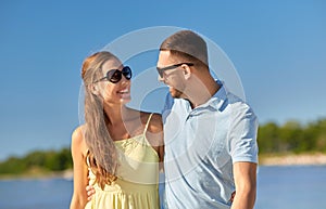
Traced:
[[203, 2], [1, 1], [0, 160], [70, 146], [83, 60], [153, 26], [193, 29], [217, 43], [261, 123], [326, 117], [325, 1]]

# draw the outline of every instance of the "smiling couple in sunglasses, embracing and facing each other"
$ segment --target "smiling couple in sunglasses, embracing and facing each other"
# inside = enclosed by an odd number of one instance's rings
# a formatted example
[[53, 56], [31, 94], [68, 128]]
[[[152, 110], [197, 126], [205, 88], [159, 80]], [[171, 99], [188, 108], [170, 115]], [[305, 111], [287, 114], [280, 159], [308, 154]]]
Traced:
[[84, 62], [86, 122], [72, 135], [71, 209], [159, 208], [163, 158], [166, 208], [253, 208], [258, 120], [211, 76], [205, 41], [191, 30], [172, 35], [156, 68], [170, 87], [162, 116], [125, 106], [131, 69], [113, 54]]

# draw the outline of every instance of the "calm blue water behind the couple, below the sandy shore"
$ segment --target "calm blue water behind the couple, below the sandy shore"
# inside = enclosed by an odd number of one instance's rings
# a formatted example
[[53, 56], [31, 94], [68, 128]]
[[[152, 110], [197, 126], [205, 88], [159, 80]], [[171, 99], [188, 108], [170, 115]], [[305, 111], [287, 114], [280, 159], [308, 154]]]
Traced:
[[[73, 182], [0, 181], [0, 209], [67, 209]], [[326, 167], [260, 167], [255, 209], [326, 209]]]

